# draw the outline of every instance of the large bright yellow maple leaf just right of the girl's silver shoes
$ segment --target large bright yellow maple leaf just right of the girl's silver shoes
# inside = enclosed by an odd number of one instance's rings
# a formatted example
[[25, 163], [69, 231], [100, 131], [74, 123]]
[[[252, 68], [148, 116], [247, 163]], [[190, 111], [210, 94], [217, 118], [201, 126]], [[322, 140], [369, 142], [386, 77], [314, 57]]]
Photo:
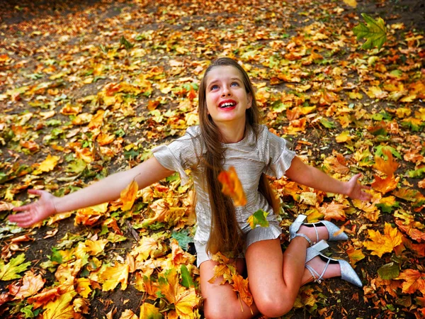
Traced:
[[386, 252], [392, 252], [403, 240], [402, 233], [397, 228], [392, 228], [389, 223], [385, 223], [384, 235], [381, 235], [378, 230], [368, 230], [368, 234], [370, 241], [363, 242], [363, 246], [368, 250], [372, 250], [371, 254], [375, 254], [378, 257], [382, 257], [382, 254]]

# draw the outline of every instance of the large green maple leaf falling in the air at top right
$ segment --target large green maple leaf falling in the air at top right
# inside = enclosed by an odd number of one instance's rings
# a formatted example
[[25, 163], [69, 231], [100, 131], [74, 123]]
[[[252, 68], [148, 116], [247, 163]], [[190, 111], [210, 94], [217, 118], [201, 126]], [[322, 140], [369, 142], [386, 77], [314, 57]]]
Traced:
[[361, 16], [366, 21], [366, 25], [359, 23], [358, 26], [353, 28], [353, 33], [357, 35], [357, 40], [365, 38], [366, 42], [361, 46], [362, 49], [372, 49], [378, 47], [380, 49], [387, 40], [387, 28], [382, 18], [373, 20], [366, 13], [361, 13]]

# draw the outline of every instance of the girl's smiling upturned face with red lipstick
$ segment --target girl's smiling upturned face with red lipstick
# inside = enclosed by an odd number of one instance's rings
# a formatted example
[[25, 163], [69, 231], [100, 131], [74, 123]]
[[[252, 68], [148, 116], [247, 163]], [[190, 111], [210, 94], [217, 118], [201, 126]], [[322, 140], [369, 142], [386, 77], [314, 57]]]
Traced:
[[242, 74], [231, 65], [213, 67], [206, 76], [205, 99], [208, 114], [217, 125], [245, 123], [245, 111], [251, 107]]

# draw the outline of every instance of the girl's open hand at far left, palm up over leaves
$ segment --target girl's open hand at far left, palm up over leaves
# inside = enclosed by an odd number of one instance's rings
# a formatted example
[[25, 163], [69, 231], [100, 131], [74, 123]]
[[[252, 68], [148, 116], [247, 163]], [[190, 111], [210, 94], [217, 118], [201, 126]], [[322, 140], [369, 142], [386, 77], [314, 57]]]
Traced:
[[55, 199], [57, 197], [48, 191], [37, 189], [30, 189], [28, 193], [38, 195], [40, 199], [35, 203], [13, 208], [13, 211], [21, 211], [22, 213], [9, 215], [8, 220], [12, 223], [18, 224], [19, 227], [28, 227], [57, 213], [55, 208]]

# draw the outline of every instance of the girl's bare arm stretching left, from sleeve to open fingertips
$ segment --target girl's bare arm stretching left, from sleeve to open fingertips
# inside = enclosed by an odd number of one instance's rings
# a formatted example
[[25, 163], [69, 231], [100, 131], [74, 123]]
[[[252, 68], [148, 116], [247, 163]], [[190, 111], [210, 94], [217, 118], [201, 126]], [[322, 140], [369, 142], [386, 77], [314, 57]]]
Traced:
[[67, 196], [55, 197], [47, 191], [30, 190], [28, 191], [30, 194], [39, 195], [40, 199], [34, 203], [13, 208], [13, 211], [21, 213], [9, 216], [9, 220], [21, 227], [28, 227], [55, 213], [74, 211], [113, 201], [120, 197], [121, 191], [133, 180], [137, 182], [139, 189], [143, 189], [172, 173], [173, 171], [166, 169], [155, 157], [152, 157], [137, 167], [113, 174]]

